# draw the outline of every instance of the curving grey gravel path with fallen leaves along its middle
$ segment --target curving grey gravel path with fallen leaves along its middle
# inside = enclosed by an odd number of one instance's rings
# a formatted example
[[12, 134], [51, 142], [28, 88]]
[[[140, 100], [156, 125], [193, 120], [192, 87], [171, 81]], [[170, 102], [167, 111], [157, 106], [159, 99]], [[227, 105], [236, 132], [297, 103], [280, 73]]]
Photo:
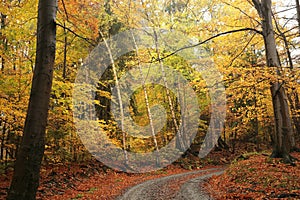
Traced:
[[[117, 200], [205, 200], [211, 199], [200, 184], [206, 178], [223, 173], [212, 168], [171, 175], [143, 182], [128, 189]], [[175, 189], [175, 190], [174, 190]]]

